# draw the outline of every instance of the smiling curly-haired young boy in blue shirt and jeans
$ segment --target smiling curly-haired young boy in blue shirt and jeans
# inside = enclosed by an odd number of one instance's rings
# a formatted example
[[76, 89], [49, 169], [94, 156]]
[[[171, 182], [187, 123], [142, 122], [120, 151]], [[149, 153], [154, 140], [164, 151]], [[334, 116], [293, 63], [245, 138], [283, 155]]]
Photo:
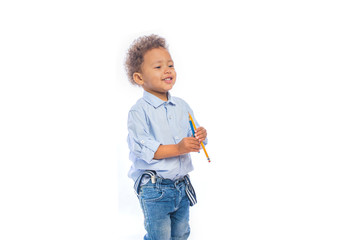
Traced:
[[129, 177], [144, 213], [144, 239], [187, 239], [189, 208], [197, 202], [187, 175], [193, 170], [189, 153], [200, 151], [207, 132], [198, 127], [192, 135], [193, 111], [169, 93], [176, 72], [165, 39], [150, 35], [135, 40], [125, 66], [131, 83], [144, 89], [128, 116]]

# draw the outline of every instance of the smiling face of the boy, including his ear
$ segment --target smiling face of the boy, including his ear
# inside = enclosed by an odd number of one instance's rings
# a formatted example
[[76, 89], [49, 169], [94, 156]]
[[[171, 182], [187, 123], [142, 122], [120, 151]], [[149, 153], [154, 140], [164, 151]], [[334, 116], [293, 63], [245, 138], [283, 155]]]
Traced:
[[[136, 75], [135, 75], [136, 74]], [[167, 92], [176, 82], [174, 62], [169, 52], [164, 48], [154, 48], [143, 56], [141, 73], [135, 73], [135, 81], [144, 90], [167, 101]]]

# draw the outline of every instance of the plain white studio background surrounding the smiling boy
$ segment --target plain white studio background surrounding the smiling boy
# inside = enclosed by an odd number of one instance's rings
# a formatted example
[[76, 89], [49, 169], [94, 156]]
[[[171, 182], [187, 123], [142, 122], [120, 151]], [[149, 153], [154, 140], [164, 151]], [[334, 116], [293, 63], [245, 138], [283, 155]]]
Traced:
[[1, 1], [0, 239], [142, 239], [123, 62], [151, 33], [208, 130], [190, 239], [338, 239], [334, 2]]

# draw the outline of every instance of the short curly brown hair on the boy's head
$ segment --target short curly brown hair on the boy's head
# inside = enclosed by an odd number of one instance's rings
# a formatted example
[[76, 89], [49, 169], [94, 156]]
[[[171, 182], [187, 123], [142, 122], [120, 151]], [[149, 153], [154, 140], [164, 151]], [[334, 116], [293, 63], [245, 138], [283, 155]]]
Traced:
[[137, 38], [130, 46], [127, 53], [125, 68], [128, 79], [132, 84], [137, 85], [134, 81], [133, 74], [135, 72], [141, 72], [144, 54], [154, 48], [165, 48], [168, 50], [165, 39], [152, 34]]

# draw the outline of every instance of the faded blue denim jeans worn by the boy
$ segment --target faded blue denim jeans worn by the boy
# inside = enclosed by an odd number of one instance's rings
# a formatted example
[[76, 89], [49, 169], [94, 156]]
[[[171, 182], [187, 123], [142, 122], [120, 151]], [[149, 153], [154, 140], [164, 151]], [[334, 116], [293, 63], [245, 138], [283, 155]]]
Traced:
[[186, 240], [190, 234], [190, 202], [184, 181], [157, 178], [140, 189], [147, 234], [144, 240]]

